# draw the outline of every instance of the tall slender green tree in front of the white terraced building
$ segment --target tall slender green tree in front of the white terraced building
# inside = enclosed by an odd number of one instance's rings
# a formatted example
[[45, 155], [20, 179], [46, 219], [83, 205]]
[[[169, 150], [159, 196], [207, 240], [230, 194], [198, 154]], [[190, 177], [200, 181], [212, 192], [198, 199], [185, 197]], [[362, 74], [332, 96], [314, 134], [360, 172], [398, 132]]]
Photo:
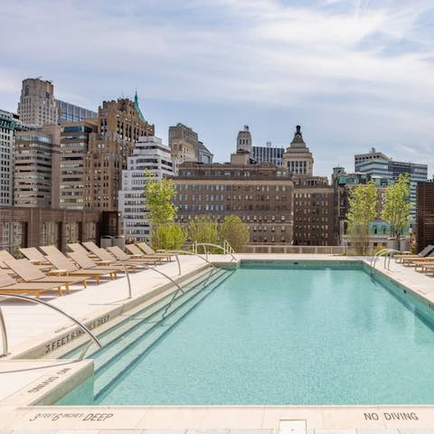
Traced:
[[176, 206], [172, 203], [175, 186], [172, 180], [158, 180], [156, 175], [146, 171], [145, 197], [146, 216], [151, 226], [151, 242], [158, 250], [181, 249], [185, 234], [180, 225], [174, 222]]

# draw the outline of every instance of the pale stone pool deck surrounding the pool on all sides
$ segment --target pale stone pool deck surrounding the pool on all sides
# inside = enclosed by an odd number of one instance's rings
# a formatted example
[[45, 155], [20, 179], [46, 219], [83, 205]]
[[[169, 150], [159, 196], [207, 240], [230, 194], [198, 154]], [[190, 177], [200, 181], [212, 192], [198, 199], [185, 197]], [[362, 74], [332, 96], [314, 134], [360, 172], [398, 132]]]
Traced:
[[[237, 254], [237, 259], [257, 260], [361, 260], [318, 254]], [[231, 257], [210, 255], [215, 263], [229, 263]], [[177, 263], [171, 262], [157, 269], [175, 280], [192, 278], [207, 267], [203, 259], [180, 257], [182, 275]], [[369, 259], [362, 259], [368, 262]], [[420, 297], [433, 303], [433, 278], [414, 269], [396, 264], [383, 269], [383, 259], [376, 268], [383, 274], [410, 288]], [[169, 291], [168, 279], [152, 270], [130, 274], [132, 297], [128, 299], [127, 278], [105, 281], [99, 286], [90, 283], [86, 289], [72, 286], [71, 294], [57, 297], [42, 294], [42, 300], [60, 307], [68, 314], [86, 322], [97, 333], [111, 326], [131, 309], [137, 307], [157, 291]], [[181, 280], [180, 280], [181, 281]], [[93, 370], [91, 361], [56, 360], [71, 336], [71, 321], [47, 307], [22, 300], [0, 302], [8, 331], [9, 352], [0, 359], [0, 434], [37, 430], [41, 432], [96, 433], [140, 432], [159, 433], [231, 433], [270, 434], [271, 432], [309, 432], [329, 434], [348, 433], [434, 433], [434, 406], [213, 406], [213, 407], [54, 407], [28, 406], [37, 397], [65, 387], [70, 375], [74, 382], [87, 378]], [[75, 327], [76, 328], [76, 327]], [[68, 335], [70, 333], [70, 335]], [[84, 339], [81, 336], [79, 339]], [[43, 358], [42, 358], [43, 357]], [[20, 360], [21, 359], [21, 360]], [[23, 360], [26, 359], [26, 360]], [[71, 377], [72, 378], [72, 377]], [[73, 384], [72, 384], [73, 386]], [[56, 389], [57, 388], [57, 389]], [[38, 399], [39, 399], [38, 398]], [[285, 422], [287, 421], [287, 422]], [[127, 430], [123, 430], [127, 429]], [[188, 430], [188, 431], [187, 431]], [[357, 431], [358, 430], [358, 431]], [[66, 432], [66, 431], [64, 431]], [[71, 431], [68, 431], [71, 432]]]

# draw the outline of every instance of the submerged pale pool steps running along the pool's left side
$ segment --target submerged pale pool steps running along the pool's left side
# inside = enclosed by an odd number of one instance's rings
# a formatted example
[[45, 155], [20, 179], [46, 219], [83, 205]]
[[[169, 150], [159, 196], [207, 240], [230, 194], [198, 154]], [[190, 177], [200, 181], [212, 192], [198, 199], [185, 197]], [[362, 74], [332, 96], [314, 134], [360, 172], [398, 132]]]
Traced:
[[[102, 394], [108, 392], [110, 386], [124, 371], [134, 366], [193, 307], [211, 294], [212, 290], [217, 288], [222, 281], [229, 278], [232, 272], [228, 270], [214, 272], [206, 288], [203, 288], [203, 283], [208, 279], [209, 273], [203, 275], [199, 281], [196, 280], [184, 286], [185, 294], [175, 298], [165, 318], [163, 318], [163, 312], [167, 305], [167, 297], [136, 316], [132, 316], [130, 320], [121, 325], [121, 331], [117, 327], [116, 336], [111, 336], [110, 344], [106, 344], [99, 350], [95, 360], [95, 398], [98, 400]], [[135, 321], [134, 324], [131, 324], [131, 321]], [[115, 340], [116, 344], [114, 344]]]

